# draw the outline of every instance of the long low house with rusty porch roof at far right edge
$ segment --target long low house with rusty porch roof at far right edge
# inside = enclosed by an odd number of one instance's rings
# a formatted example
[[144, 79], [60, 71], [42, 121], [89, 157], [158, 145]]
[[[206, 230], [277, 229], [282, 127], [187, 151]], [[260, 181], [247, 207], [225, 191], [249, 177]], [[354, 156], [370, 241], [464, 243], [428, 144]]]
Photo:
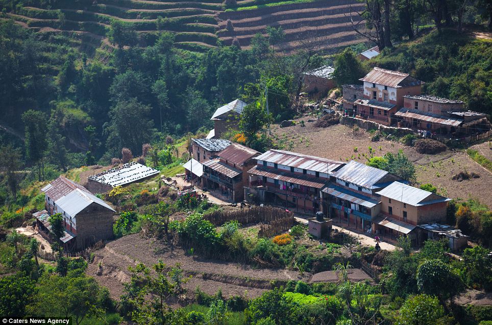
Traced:
[[468, 135], [490, 130], [486, 114], [465, 111], [464, 103], [430, 95], [405, 95], [396, 112], [399, 126], [438, 135]]

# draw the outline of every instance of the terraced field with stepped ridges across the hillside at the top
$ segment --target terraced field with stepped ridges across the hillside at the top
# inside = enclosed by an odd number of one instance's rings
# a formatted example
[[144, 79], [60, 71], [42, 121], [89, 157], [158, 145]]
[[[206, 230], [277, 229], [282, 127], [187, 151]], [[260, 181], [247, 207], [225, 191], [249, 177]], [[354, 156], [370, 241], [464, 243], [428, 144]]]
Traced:
[[[56, 2], [49, 9], [22, 7], [8, 16], [40, 33], [69, 32], [90, 38], [89, 46], [95, 47], [102, 43], [109, 45], [106, 33], [113, 19], [124, 21], [145, 34], [141, 46], [151, 45], [158, 31], [169, 31], [176, 33], [178, 47], [192, 51], [204, 51], [217, 46], [218, 41], [229, 45], [234, 38], [242, 48], [248, 48], [256, 33], [265, 34], [266, 26], [282, 27], [286, 39], [280, 46], [285, 51], [299, 47], [297, 40], [309, 31], [315, 33], [322, 48], [360, 42], [348, 27], [350, 18], [347, 17], [349, 5], [362, 8], [356, 0], [293, 0], [287, 4], [261, 5], [258, 1], [239, 1], [237, 7], [228, 10], [222, 0], [64, 1]], [[233, 24], [229, 30], [226, 29], [228, 19]]]

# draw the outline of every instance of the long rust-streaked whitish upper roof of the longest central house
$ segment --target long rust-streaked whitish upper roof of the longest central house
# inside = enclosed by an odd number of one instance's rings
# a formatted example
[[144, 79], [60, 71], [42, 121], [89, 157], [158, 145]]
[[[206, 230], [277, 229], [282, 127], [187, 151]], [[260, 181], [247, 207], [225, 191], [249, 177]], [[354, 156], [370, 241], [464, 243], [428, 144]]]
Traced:
[[290, 151], [270, 149], [266, 153], [256, 157], [257, 160], [262, 160], [279, 165], [296, 167], [306, 170], [331, 173], [333, 170], [344, 165], [344, 162], [308, 156]]

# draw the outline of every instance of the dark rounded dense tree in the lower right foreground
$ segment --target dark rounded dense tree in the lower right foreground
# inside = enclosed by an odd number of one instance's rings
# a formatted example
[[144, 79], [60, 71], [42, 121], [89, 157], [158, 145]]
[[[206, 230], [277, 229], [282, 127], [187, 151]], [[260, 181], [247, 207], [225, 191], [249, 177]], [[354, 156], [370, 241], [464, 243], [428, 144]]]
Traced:
[[436, 295], [441, 300], [460, 289], [459, 278], [441, 260], [427, 260], [420, 264], [416, 279], [420, 292]]

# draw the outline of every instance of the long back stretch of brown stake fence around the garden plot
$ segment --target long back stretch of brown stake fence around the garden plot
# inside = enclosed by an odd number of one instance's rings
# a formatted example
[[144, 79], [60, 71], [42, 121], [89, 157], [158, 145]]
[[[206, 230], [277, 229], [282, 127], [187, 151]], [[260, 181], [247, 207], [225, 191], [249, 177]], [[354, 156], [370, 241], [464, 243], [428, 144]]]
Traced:
[[206, 220], [212, 222], [215, 226], [222, 226], [226, 221], [237, 220], [240, 224], [249, 223], [271, 223], [272, 221], [293, 218], [292, 212], [275, 207], [249, 207], [234, 211], [214, 211], [204, 215]]

